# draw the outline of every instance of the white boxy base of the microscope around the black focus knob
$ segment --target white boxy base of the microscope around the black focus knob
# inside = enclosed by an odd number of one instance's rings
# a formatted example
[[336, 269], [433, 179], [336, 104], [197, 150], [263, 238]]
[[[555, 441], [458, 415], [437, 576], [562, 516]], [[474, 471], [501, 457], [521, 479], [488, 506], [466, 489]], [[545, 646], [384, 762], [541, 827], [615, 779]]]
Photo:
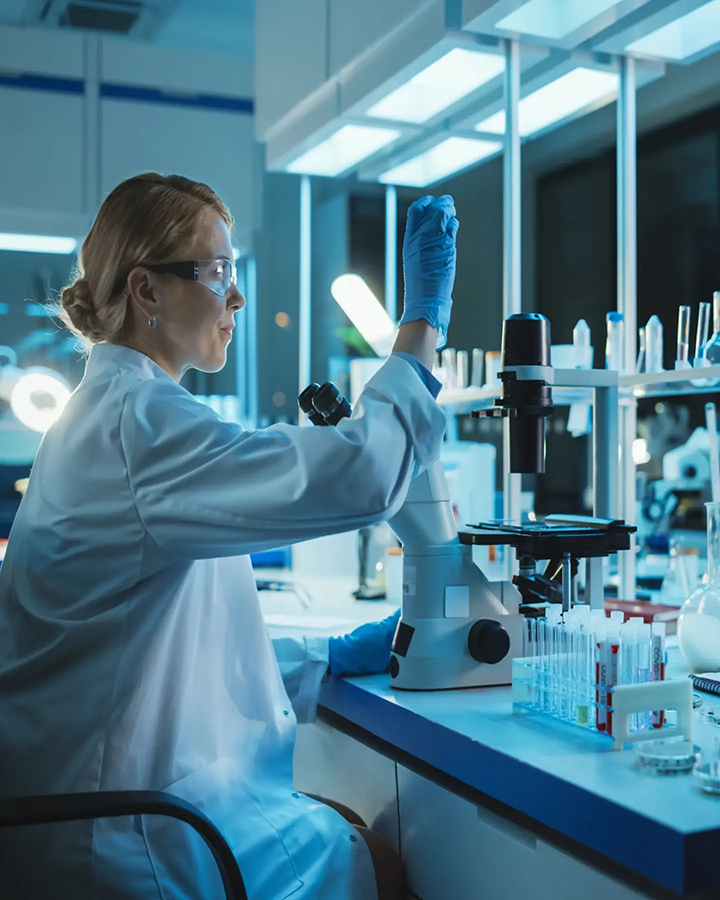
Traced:
[[[494, 617], [493, 617], [494, 618]], [[478, 619], [402, 620], [413, 629], [406, 654], [394, 652], [391, 687], [402, 691], [449, 691], [512, 683], [512, 661], [522, 656], [524, 616], [495, 619], [510, 637], [510, 649], [500, 662], [478, 662], [468, 650], [468, 635]]]

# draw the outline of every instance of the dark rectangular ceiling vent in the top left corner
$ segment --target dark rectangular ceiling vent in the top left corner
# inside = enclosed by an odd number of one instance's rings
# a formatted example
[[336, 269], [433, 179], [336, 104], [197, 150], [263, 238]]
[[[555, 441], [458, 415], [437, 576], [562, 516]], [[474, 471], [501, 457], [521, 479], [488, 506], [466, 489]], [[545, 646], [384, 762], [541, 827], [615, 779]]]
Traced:
[[157, 35], [178, 0], [36, 0], [25, 24], [149, 39]]

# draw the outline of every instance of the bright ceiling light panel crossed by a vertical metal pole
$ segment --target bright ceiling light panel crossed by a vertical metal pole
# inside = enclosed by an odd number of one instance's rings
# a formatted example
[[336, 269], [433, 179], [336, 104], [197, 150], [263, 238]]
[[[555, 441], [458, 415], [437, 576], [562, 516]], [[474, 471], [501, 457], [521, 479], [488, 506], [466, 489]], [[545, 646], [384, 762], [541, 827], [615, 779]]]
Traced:
[[[597, 69], [573, 69], [523, 97], [518, 108], [520, 134], [527, 137], [560, 122], [586, 106], [617, 93], [617, 75]], [[475, 126], [477, 131], [505, 133], [505, 113], [495, 113]]]

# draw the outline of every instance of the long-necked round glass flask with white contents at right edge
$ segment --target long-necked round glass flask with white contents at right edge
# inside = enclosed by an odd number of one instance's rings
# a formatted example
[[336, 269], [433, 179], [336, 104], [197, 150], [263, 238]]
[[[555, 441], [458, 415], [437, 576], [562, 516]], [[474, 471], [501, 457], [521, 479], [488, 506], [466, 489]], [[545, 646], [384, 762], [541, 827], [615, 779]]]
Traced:
[[720, 503], [706, 503], [707, 582], [685, 601], [678, 619], [678, 643], [696, 672], [720, 669]]

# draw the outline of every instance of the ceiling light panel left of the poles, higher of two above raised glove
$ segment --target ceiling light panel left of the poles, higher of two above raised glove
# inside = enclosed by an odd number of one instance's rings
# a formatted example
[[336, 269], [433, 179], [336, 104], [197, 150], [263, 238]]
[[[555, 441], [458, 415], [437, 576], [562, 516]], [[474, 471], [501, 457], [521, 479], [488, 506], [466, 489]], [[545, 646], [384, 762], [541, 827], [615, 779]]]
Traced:
[[502, 56], [450, 50], [367, 111], [378, 119], [420, 124], [457, 103], [505, 69]]

